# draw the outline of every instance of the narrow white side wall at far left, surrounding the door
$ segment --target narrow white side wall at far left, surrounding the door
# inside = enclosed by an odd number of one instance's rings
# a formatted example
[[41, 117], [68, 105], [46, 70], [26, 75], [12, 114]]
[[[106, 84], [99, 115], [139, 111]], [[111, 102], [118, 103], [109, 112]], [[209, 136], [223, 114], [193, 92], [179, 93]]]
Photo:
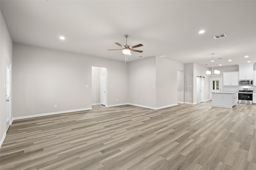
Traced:
[[[6, 23], [2, 16], [0, 15], [0, 147], [2, 145], [3, 139], [6, 134], [6, 91], [4, 90], [5, 82], [5, 65], [6, 60], [11, 64], [12, 69], [12, 39], [10, 37], [9, 31], [6, 27]], [[12, 72], [12, 70], [11, 70]], [[12, 85], [11, 77], [11, 85]], [[11, 87], [11, 101], [13, 99], [12, 87]], [[12, 102], [11, 102], [11, 117], [12, 117]]]

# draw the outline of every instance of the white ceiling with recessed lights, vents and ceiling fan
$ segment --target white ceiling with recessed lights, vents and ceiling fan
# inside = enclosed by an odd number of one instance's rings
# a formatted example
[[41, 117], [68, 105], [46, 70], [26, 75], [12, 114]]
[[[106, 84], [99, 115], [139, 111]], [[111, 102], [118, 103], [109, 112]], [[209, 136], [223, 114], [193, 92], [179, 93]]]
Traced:
[[[152, 56], [214, 66], [256, 63], [256, 1], [0, 1], [14, 42], [124, 61], [115, 42]], [[204, 34], [198, 32], [204, 29]], [[227, 36], [214, 39], [225, 33]], [[61, 41], [58, 37], [66, 37]], [[143, 55], [144, 57], [138, 57]], [[248, 55], [248, 58], [244, 56]], [[222, 58], [222, 59], [217, 59]], [[231, 59], [231, 62], [228, 60]]]

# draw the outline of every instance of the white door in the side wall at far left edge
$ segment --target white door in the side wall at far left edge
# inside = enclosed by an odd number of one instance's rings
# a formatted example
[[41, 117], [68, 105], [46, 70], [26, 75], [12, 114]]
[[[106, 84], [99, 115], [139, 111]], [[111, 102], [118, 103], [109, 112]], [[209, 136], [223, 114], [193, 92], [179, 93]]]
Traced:
[[6, 76], [5, 76], [6, 84], [6, 125], [7, 128], [10, 126], [11, 120], [11, 65], [6, 61]]

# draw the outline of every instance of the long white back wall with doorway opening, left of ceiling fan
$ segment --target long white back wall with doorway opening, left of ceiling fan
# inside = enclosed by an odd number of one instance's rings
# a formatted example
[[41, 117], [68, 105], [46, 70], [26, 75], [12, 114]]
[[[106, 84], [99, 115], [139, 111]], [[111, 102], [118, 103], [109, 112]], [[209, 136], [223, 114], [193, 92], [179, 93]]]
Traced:
[[108, 70], [108, 105], [127, 103], [124, 62], [14, 43], [13, 117], [90, 109], [92, 66]]

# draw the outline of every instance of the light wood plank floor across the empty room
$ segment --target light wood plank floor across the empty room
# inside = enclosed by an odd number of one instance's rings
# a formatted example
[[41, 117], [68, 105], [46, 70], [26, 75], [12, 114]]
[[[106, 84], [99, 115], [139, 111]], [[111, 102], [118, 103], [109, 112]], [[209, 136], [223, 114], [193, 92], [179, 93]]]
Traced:
[[256, 105], [211, 102], [13, 121], [1, 170], [256, 170]]

